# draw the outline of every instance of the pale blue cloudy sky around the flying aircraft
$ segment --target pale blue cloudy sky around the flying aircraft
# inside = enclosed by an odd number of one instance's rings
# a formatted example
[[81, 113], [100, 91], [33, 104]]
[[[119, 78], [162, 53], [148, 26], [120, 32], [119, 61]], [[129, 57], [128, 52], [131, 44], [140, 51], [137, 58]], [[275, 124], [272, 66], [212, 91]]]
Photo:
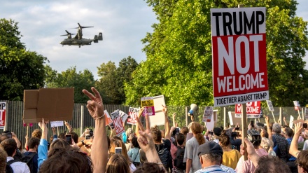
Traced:
[[[308, 21], [308, 1], [297, 0], [297, 16]], [[76, 66], [89, 69], [97, 78], [97, 67], [103, 62], [118, 62], [132, 56], [137, 62], [146, 60], [141, 39], [153, 32], [157, 22], [151, 7], [143, 0], [13, 0], [1, 1], [0, 18], [18, 22], [21, 41], [28, 50], [48, 58], [52, 69], [65, 71]], [[83, 29], [83, 38], [93, 39], [103, 32], [104, 41], [91, 46], [62, 46], [65, 30], [76, 33], [77, 22], [94, 28]], [[305, 58], [307, 61], [308, 58]]]

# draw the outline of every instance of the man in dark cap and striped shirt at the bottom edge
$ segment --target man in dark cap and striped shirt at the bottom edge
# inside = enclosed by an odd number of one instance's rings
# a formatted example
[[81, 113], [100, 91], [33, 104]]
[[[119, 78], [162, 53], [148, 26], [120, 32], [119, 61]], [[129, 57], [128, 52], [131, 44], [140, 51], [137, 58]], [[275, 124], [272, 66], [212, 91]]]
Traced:
[[197, 155], [200, 158], [202, 169], [197, 170], [195, 173], [202, 172], [215, 172], [223, 173], [221, 163], [223, 162], [223, 148], [215, 141], [209, 141], [200, 145], [197, 148]]

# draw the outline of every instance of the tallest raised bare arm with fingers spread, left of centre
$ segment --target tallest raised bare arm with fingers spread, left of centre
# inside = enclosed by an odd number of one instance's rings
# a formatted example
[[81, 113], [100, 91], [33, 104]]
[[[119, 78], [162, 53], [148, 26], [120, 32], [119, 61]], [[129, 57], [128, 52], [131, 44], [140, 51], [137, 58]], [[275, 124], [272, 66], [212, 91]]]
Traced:
[[91, 159], [93, 172], [97, 173], [106, 171], [108, 144], [103, 100], [94, 87], [92, 87], [91, 90], [94, 92], [94, 95], [87, 90], [83, 90], [83, 93], [90, 98], [90, 100], [87, 101], [87, 110], [95, 120], [94, 134], [97, 135], [95, 135], [92, 141]]

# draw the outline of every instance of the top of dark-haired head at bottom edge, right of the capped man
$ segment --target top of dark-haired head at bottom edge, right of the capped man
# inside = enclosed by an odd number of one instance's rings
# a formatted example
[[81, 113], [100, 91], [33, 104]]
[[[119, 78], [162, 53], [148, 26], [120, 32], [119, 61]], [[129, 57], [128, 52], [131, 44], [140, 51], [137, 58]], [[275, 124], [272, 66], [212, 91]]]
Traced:
[[278, 157], [271, 157], [269, 155], [262, 156], [258, 160], [258, 167], [255, 168], [254, 173], [287, 173], [290, 168], [286, 162], [280, 160]]

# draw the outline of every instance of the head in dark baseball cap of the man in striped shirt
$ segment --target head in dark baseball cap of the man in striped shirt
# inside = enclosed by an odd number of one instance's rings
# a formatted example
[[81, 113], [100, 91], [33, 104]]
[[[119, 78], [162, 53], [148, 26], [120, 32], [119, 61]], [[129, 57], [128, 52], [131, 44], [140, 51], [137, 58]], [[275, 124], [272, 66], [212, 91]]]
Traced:
[[221, 165], [221, 162], [223, 162], [223, 148], [215, 141], [209, 141], [200, 145], [197, 154], [199, 155], [202, 168]]

